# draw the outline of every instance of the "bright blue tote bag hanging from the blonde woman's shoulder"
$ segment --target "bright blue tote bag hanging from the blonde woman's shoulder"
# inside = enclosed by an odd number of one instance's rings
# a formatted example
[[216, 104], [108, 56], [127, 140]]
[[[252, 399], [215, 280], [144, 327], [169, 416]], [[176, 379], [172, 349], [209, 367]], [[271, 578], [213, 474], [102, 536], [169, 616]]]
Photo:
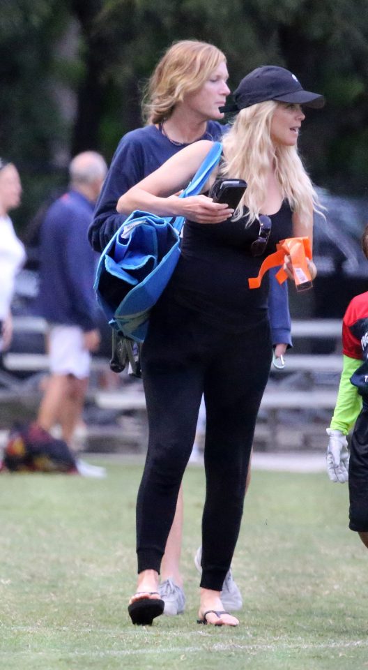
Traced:
[[[201, 192], [221, 153], [222, 144], [214, 142], [181, 198]], [[102, 251], [95, 292], [109, 325], [126, 338], [144, 341], [151, 308], [178, 262], [183, 223], [183, 216], [135, 210]]]

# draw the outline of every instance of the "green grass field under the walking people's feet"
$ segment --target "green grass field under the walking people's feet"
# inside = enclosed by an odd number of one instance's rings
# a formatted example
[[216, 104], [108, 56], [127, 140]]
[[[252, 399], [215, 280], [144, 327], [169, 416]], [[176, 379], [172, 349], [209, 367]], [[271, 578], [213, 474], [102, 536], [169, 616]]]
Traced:
[[202, 468], [185, 475], [185, 614], [133, 627], [141, 466], [104, 480], [0, 477], [3, 670], [324, 670], [368, 667], [367, 550], [347, 530], [346, 486], [254, 472], [233, 570], [240, 626], [196, 624]]

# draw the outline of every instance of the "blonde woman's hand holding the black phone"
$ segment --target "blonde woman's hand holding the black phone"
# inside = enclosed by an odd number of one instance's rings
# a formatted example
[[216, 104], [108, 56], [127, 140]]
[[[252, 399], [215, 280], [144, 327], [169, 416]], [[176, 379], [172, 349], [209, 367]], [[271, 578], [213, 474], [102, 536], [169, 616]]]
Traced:
[[220, 223], [233, 215], [234, 210], [224, 202], [213, 202], [207, 195], [190, 195], [188, 198], [178, 198], [170, 195], [167, 198], [175, 212], [175, 216], [185, 216], [196, 223]]

